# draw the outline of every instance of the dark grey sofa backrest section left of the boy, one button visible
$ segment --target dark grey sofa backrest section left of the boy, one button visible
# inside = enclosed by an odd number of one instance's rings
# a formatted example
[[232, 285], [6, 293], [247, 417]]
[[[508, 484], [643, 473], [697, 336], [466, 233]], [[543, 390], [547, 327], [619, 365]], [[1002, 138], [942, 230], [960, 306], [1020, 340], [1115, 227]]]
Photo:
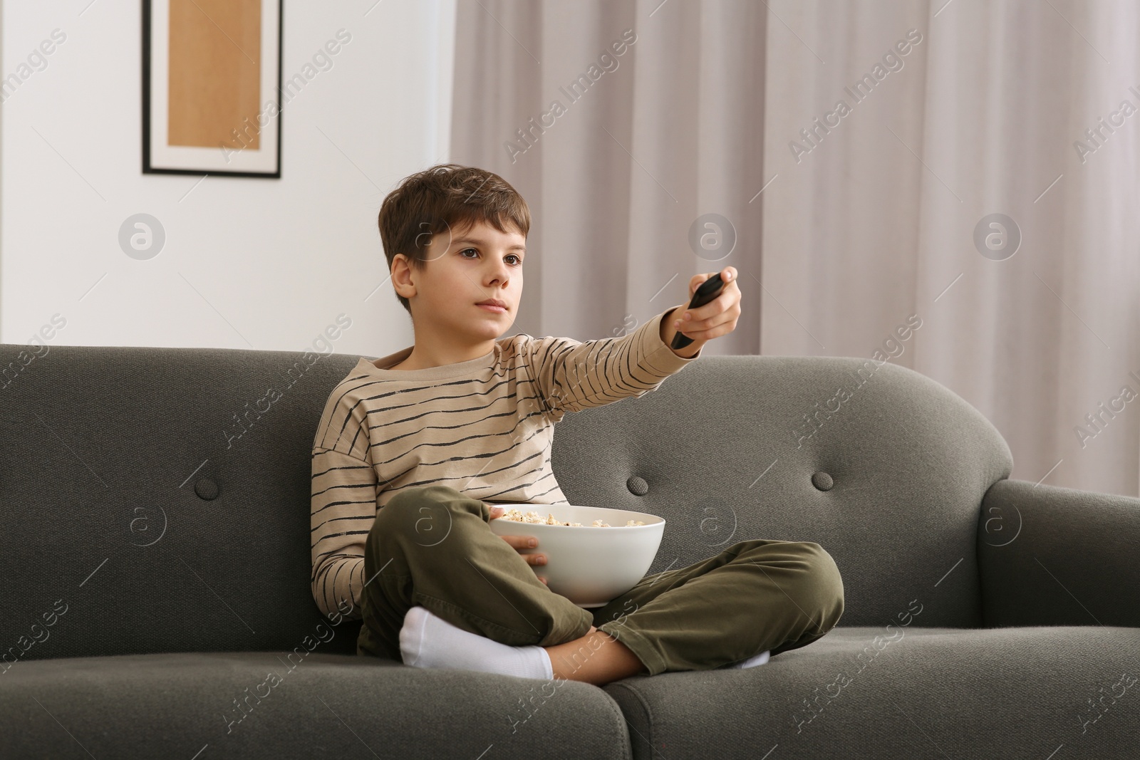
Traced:
[[0, 656], [356, 652], [312, 600], [309, 477], [359, 357], [30, 350], [0, 344]]

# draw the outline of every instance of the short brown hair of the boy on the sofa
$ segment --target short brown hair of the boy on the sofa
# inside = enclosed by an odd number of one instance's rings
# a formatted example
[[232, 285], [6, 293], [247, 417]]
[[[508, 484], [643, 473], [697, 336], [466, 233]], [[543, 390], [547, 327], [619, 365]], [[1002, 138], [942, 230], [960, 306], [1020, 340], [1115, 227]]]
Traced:
[[[388, 270], [397, 253], [410, 259], [413, 269], [427, 265], [427, 247], [440, 232], [463, 234], [479, 221], [500, 232], [515, 227], [530, 232], [530, 207], [495, 172], [459, 164], [437, 164], [406, 177], [380, 206], [380, 240]], [[408, 300], [396, 297], [412, 313]]]

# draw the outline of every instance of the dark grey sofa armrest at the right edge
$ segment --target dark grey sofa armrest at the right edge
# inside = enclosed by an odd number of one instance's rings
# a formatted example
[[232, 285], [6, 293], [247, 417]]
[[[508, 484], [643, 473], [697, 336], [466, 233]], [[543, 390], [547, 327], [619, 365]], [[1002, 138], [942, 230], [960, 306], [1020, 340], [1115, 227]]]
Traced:
[[982, 620], [1140, 627], [1140, 499], [1000, 480], [978, 520]]

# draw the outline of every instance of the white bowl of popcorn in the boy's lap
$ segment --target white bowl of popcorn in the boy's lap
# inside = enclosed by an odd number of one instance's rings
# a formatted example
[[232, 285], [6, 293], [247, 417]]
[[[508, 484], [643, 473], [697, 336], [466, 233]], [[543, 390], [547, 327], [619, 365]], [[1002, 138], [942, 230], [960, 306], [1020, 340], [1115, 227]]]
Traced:
[[665, 518], [644, 512], [568, 504], [495, 504], [505, 508], [490, 521], [497, 536], [534, 536], [538, 546], [520, 554], [545, 554], [535, 565], [546, 586], [579, 607], [601, 607], [637, 585], [657, 556]]

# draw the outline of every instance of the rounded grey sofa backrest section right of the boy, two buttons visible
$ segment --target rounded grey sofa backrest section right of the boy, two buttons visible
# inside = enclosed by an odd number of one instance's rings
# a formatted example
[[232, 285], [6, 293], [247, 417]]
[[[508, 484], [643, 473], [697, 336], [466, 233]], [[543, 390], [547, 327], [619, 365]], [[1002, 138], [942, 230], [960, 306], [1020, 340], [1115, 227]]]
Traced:
[[854, 357], [700, 359], [563, 417], [551, 461], [573, 504], [666, 518], [650, 572], [746, 539], [815, 541], [844, 578], [839, 624], [883, 627], [982, 624], [980, 502], [1012, 468], [961, 397]]

